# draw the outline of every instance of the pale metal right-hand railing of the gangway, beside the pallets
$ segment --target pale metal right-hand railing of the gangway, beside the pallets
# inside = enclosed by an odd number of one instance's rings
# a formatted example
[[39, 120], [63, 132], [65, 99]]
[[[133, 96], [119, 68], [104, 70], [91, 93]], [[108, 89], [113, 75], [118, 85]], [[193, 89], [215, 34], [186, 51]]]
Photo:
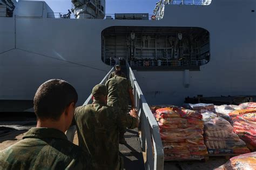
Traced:
[[154, 170], [164, 169], [164, 150], [159, 126], [127, 62], [126, 68], [129, 71], [133, 87], [134, 103], [139, 111], [141, 125], [140, 142], [142, 144], [142, 151], [146, 153], [145, 168]]

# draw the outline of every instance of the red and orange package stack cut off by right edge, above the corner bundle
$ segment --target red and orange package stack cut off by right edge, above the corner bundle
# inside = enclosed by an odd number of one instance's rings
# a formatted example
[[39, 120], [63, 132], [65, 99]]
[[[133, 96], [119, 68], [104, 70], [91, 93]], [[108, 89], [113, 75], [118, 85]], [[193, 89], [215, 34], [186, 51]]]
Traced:
[[256, 107], [247, 107], [244, 110], [233, 111], [230, 114], [233, 120], [234, 132], [244, 140], [251, 150], [256, 149]]

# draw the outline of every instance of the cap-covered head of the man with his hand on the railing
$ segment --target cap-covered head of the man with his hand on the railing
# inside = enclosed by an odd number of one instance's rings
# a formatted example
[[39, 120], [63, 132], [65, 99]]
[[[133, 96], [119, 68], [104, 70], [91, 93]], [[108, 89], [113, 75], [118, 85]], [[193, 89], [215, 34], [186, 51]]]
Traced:
[[103, 84], [97, 84], [92, 89], [93, 100], [100, 100], [106, 103], [107, 87]]

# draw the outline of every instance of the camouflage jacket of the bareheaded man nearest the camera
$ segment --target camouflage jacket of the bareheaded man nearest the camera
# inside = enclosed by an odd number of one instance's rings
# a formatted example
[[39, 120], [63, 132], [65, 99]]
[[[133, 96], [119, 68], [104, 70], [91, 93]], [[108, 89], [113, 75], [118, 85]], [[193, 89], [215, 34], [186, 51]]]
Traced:
[[89, 155], [54, 128], [31, 128], [0, 151], [0, 169], [91, 169]]

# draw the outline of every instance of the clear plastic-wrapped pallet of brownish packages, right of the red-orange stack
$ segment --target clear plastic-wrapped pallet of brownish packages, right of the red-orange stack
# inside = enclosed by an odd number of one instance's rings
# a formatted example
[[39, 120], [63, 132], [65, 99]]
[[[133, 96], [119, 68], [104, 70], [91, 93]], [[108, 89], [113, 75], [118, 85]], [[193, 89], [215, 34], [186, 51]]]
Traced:
[[244, 141], [233, 132], [231, 124], [213, 112], [202, 113], [204, 140], [209, 154], [248, 153]]

